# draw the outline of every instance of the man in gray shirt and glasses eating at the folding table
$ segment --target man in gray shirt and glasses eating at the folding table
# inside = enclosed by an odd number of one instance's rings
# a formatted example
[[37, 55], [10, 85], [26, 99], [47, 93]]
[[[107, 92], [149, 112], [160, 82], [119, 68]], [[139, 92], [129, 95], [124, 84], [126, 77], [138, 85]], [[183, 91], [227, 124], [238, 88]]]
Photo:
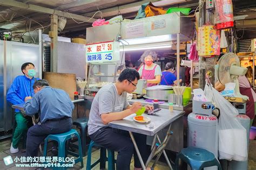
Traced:
[[[140, 102], [130, 105], [126, 99], [126, 93], [132, 93], [136, 89], [138, 80], [139, 73], [136, 69], [124, 69], [116, 83], [104, 86], [98, 91], [91, 106], [88, 133], [97, 144], [118, 151], [117, 169], [130, 169], [133, 153], [134, 169], [142, 168], [129, 133], [107, 126], [112, 121], [134, 114], [142, 107]], [[146, 110], [153, 110], [152, 105], [146, 105], [145, 107]], [[147, 159], [146, 136], [138, 133], [133, 133], [133, 135], [145, 163]]]

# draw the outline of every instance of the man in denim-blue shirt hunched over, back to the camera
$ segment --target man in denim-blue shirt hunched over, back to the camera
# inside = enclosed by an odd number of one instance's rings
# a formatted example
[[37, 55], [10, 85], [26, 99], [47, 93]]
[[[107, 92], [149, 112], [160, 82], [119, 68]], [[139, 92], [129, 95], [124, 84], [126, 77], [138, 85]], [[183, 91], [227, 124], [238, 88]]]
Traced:
[[26, 157], [37, 157], [38, 147], [49, 134], [64, 133], [72, 128], [74, 104], [68, 93], [62, 89], [51, 88], [46, 80], [34, 83], [35, 95], [25, 98], [26, 115], [40, 113], [40, 123], [28, 130]]

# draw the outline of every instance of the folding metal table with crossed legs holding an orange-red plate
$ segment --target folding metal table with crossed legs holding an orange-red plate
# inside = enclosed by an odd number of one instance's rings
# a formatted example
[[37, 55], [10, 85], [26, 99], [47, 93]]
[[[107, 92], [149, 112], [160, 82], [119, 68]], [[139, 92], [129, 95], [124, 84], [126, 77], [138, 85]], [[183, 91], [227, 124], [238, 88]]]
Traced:
[[[133, 121], [133, 117], [136, 116], [136, 114], [132, 114], [130, 116], [125, 117], [122, 120], [110, 122], [109, 126], [111, 128], [129, 131], [134, 148], [138, 154], [140, 164], [142, 165], [143, 169], [146, 169], [146, 166], [149, 164], [150, 160], [153, 158], [154, 155], [156, 155], [155, 153], [156, 153], [157, 148], [156, 148], [155, 143], [156, 143], [156, 139], [158, 139], [159, 143], [160, 143], [159, 147], [161, 146], [161, 151], [159, 151], [157, 153], [158, 158], [156, 159], [156, 161], [158, 161], [158, 159], [160, 158], [161, 153], [164, 153], [165, 158], [167, 159], [167, 164], [169, 164], [169, 167], [171, 168], [169, 159], [167, 158], [167, 155], [164, 151], [166, 144], [161, 145], [161, 142], [160, 142], [159, 137], [157, 136], [157, 133], [169, 125], [169, 131], [167, 131], [166, 138], [164, 140], [164, 142], [167, 142], [170, 137], [169, 136], [167, 139], [167, 136], [171, 133], [170, 129], [171, 129], [172, 122], [176, 121], [178, 118], [180, 118], [184, 114], [185, 114], [184, 111], [174, 110], [173, 112], [170, 112], [168, 109], [162, 109], [162, 110], [156, 112], [155, 115], [143, 114], [144, 116], [151, 118], [150, 123], [146, 123], [146, 124], [137, 123], [137, 122]], [[142, 160], [142, 157], [139, 153], [139, 150], [138, 150], [136, 141], [134, 140], [132, 132], [146, 134], [148, 136], [154, 136], [153, 144], [151, 147], [151, 154], [150, 154], [150, 157], [147, 159], [146, 166], [145, 166], [145, 164]], [[155, 164], [156, 164], [156, 162], [154, 162], [154, 165]]]

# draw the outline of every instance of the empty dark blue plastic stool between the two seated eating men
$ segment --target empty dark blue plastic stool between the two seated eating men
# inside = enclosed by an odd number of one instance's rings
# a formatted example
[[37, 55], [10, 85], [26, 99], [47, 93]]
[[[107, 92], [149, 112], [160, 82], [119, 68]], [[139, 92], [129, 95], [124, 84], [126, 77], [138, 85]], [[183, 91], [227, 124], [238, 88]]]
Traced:
[[[86, 155], [86, 150], [87, 150], [87, 145], [86, 145], [86, 138], [87, 138], [87, 123], [89, 121], [89, 118], [87, 117], [82, 117], [76, 119], [76, 121], [73, 121], [73, 125], [77, 126], [77, 128], [80, 129], [80, 138], [82, 142], [82, 152], [83, 152], [83, 157]], [[73, 144], [75, 145], [75, 144]]]

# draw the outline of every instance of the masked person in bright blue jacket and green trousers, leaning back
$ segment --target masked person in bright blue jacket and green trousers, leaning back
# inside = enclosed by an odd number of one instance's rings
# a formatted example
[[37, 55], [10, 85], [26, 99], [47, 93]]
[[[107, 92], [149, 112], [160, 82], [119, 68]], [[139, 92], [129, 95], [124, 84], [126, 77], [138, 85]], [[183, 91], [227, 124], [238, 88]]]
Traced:
[[[36, 70], [35, 65], [31, 62], [23, 63], [21, 67], [22, 73], [24, 75], [19, 75], [12, 82], [11, 87], [8, 90], [6, 99], [12, 104], [22, 104], [24, 103], [25, 97], [33, 96], [33, 84], [35, 80]], [[14, 130], [14, 136], [12, 137], [12, 143], [10, 152], [17, 153], [19, 152], [18, 143], [21, 140], [23, 134], [28, 130], [28, 125], [31, 123], [30, 116], [23, 116], [21, 111], [15, 110], [15, 121], [17, 126]]]

